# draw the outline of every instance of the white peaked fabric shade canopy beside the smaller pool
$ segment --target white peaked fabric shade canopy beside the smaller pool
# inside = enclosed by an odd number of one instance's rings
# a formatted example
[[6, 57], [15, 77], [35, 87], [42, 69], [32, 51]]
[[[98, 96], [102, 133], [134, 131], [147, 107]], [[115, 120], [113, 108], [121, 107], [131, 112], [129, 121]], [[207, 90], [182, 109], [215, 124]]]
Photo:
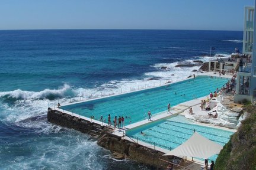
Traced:
[[199, 133], [195, 132], [186, 142], [172, 151], [165, 153], [167, 155], [175, 156], [191, 156], [196, 158], [208, 159], [210, 156], [220, 152], [223, 146], [204, 138]]

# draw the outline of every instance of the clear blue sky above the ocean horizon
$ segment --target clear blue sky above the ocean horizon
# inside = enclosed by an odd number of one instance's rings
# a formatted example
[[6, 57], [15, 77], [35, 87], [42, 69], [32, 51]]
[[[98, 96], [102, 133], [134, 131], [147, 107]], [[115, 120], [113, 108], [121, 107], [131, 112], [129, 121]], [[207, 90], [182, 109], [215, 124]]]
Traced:
[[1, 0], [0, 30], [243, 30], [254, 0]]

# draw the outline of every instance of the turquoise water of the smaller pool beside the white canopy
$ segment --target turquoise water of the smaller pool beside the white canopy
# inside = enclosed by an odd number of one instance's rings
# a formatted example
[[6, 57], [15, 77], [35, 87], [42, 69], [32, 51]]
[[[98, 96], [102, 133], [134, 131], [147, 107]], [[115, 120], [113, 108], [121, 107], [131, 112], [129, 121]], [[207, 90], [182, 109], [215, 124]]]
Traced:
[[[222, 146], [229, 141], [230, 136], [233, 134], [233, 132], [227, 130], [194, 125], [193, 122], [187, 120], [184, 116], [178, 115], [167, 120], [155, 121], [139, 128], [127, 130], [126, 135], [152, 145], [155, 143], [156, 146], [161, 148], [172, 150], [188, 140], [193, 135], [194, 130]], [[141, 135], [141, 131], [146, 135]], [[209, 159], [215, 161], [216, 158], [217, 155], [214, 155]]]

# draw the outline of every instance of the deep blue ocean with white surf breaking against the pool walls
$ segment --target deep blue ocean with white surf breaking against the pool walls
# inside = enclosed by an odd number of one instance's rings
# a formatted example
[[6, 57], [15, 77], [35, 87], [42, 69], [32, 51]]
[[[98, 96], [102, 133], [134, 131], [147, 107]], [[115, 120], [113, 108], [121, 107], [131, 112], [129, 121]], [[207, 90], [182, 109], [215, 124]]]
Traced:
[[[0, 169], [151, 169], [47, 122], [49, 105], [193, 74], [194, 60], [242, 51], [242, 31], [0, 31]], [[166, 69], [161, 69], [166, 67]]]

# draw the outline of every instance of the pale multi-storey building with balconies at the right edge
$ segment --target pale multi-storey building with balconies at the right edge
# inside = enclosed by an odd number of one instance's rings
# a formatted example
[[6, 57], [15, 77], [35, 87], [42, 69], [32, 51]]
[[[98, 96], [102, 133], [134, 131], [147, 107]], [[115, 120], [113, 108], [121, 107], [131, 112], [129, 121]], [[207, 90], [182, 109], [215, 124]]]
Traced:
[[[255, 0], [256, 3], [256, 0]], [[256, 98], [256, 17], [255, 6], [245, 6], [243, 54], [240, 58], [236, 77], [235, 102], [254, 100]]]

